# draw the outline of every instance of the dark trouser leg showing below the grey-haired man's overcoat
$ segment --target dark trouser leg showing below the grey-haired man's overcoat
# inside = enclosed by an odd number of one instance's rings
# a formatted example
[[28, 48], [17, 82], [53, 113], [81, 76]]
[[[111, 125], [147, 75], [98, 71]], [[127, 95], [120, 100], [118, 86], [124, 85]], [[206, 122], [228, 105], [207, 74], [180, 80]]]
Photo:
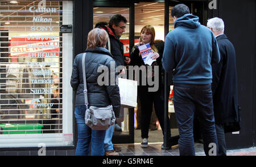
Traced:
[[222, 124], [215, 125], [218, 139], [218, 156], [226, 156], [226, 142], [224, 126]]

